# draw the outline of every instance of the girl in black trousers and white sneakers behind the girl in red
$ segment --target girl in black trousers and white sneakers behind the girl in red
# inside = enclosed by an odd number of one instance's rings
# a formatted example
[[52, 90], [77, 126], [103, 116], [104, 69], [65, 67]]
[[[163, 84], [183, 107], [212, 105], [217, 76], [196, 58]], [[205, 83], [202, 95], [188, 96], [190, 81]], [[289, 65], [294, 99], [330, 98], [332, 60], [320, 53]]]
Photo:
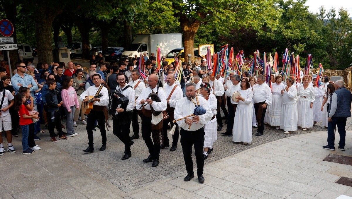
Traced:
[[[27, 87], [20, 87], [19, 90], [18, 90], [18, 93], [23, 93], [26, 97], [26, 101], [23, 102], [23, 105], [26, 107], [27, 109], [27, 112], [30, 114], [30, 115], [35, 115], [37, 114], [38, 112], [35, 111], [33, 109], [33, 97], [31, 95], [31, 91], [29, 88]], [[39, 117], [38, 117], [39, 118]], [[34, 118], [36, 119], [36, 118]], [[37, 119], [36, 119], [37, 121]], [[34, 122], [36, 122], [34, 121]], [[33, 122], [33, 120], [32, 120]], [[31, 147], [32, 150], [40, 150], [40, 147], [38, 147], [36, 145], [36, 143], [34, 142], [34, 140], [36, 140], [36, 135], [34, 134], [34, 123], [31, 124], [33, 126], [33, 128], [29, 128], [29, 134], [28, 134], [28, 145], [29, 147]]]

